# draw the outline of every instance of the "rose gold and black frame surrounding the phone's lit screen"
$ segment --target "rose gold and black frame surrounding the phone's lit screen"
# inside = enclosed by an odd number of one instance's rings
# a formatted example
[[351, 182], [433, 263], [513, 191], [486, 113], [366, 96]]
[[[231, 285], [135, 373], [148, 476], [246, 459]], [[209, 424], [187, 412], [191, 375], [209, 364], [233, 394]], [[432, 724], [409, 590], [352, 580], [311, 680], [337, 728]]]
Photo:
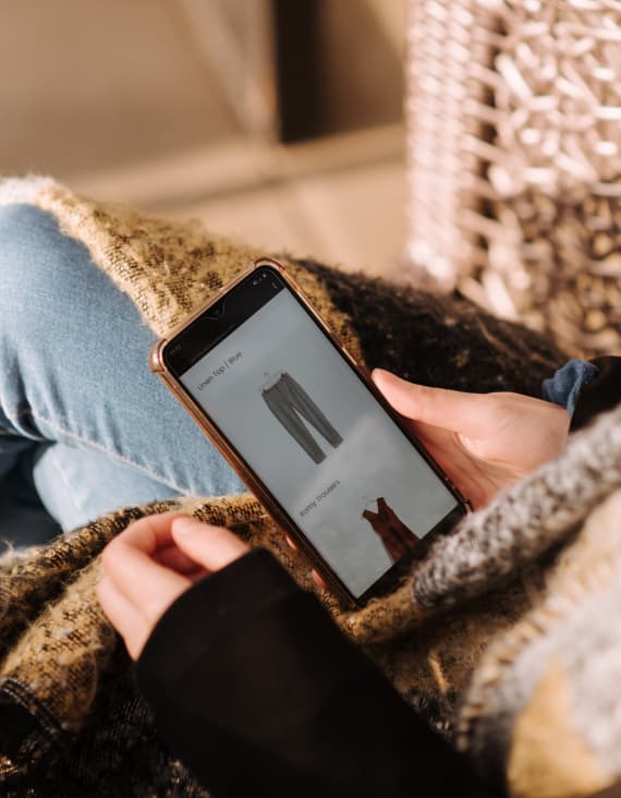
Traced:
[[[208, 313], [215, 304], [217, 304], [223, 297], [230, 294], [235, 290], [238, 286], [251, 278], [252, 275], [259, 270], [271, 268], [278, 273], [278, 276], [285, 283], [285, 288], [290, 289], [293, 298], [301, 304], [303, 310], [310, 316], [319, 329], [332, 343], [337, 353], [340, 354], [348, 365], [354, 371], [356, 376], [361, 379], [363, 385], [372, 392], [374, 398], [379, 402], [381, 408], [388, 413], [390, 419], [398, 425], [403, 432], [405, 437], [412, 443], [418, 454], [425, 459], [427, 464], [446, 485], [450, 493], [455, 498], [456, 506], [449, 512], [433, 530], [430, 530], [415, 546], [412, 547], [411, 552], [402, 557], [400, 560], [393, 564], [376, 582], [374, 582], [362, 595], [355, 596], [351, 593], [348, 587], [342, 582], [336, 571], [332, 570], [330, 564], [317, 552], [310, 541], [306, 537], [304, 532], [296, 525], [295, 521], [289, 516], [287, 510], [280, 505], [278, 499], [270, 493], [269, 488], [261, 482], [259, 476], [249, 469], [248, 464], [244, 460], [243, 456], [238, 449], [229, 442], [226, 435], [209, 418], [208, 413], [203, 407], [192, 397], [190, 391], [183, 386], [180, 377], [174, 374], [167, 363], [167, 351], [169, 348], [175, 346], [176, 339], [188, 331], [202, 316]], [[247, 318], [252, 316], [248, 315]], [[239, 327], [239, 325], [238, 325]], [[238, 328], [235, 327], [235, 329]], [[229, 330], [233, 331], [233, 330]], [[229, 335], [227, 332], [227, 335]], [[210, 351], [214, 347], [220, 343], [222, 338], [216, 339], [205, 349], [205, 353]], [[215, 295], [212, 295], [204, 305], [202, 305], [192, 315], [185, 318], [179, 324], [168, 336], [160, 338], [153, 346], [149, 356], [149, 363], [151, 371], [157, 374], [167, 387], [171, 390], [178, 401], [190, 413], [194, 421], [198, 424], [202, 431], [209, 437], [216, 448], [222, 454], [222, 456], [229, 461], [233, 470], [239, 474], [241, 480], [248, 486], [251, 492], [261, 501], [266, 507], [270, 516], [273, 518], [276, 523], [280, 525], [288, 534], [292, 536], [295, 543], [300, 546], [303, 553], [310, 560], [312, 565], [317, 571], [324, 577], [329, 588], [345, 604], [354, 607], [364, 606], [370, 598], [381, 595], [393, 588], [405, 575], [409, 567], [415, 559], [419, 559], [425, 552], [429, 548], [433, 541], [442, 533], [450, 531], [458, 521], [468, 511], [468, 503], [461, 496], [458, 488], [451, 483], [447, 474], [431, 458], [429, 452], [418, 442], [412, 432], [407, 428], [404, 420], [397, 414], [392, 408], [388, 404], [383, 396], [376, 388], [375, 384], [368, 376], [368, 374], [356, 363], [351, 353], [346, 350], [339, 338], [332, 332], [327, 326], [317, 311], [313, 307], [310, 302], [304, 297], [301, 289], [297, 287], [293, 278], [288, 274], [285, 267], [269, 257], [257, 258], [252, 262], [249, 266], [243, 269], [233, 280], [223, 286]]]

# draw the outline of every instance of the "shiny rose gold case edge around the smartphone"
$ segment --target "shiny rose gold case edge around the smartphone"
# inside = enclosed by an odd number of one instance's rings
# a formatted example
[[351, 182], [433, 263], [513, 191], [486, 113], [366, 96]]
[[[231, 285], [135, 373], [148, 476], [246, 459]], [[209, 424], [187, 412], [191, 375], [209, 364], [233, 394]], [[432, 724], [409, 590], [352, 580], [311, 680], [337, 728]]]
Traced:
[[[387, 409], [386, 400], [381, 397], [378, 389], [375, 387], [370, 378], [367, 376], [367, 374], [360, 367], [360, 365], [356, 363], [356, 361], [353, 359], [353, 356], [350, 354], [350, 352], [346, 350], [346, 348], [343, 346], [342, 341], [339, 340], [339, 338], [329, 329], [329, 327], [326, 325], [324, 319], [319, 316], [319, 314], [315, 311], [313, 305], [306, 300], [304, 294], [302, 293], [299, 286], [295, 283], [295, 281], [287, 274], [287, 270], [282, 264], [280, 264], [278, 261], [273, 261], [269, 257], [261, 257], [258, 258], [249, 264], [249, 266], [245, 269], [243, 269], [238, 277], [235, 277], [233, 280], [231, 280], [228, 285], [223, 286], [216, 294], [214, 294], [202, 307], [199, 307], [195, 313], [193, 313], [191, 316], [188, 316], [186, 319], [184, 319], [181, 324], [179, 324], [168, 336], [165, 338], [161, 338], [160, 340], [156, 341], [154, 347], [150, 351], [149, 356], [149, 363], [151, 371], [157, 374], [167, 385], [167, 387], [171, 390], [171, 392], [174, 395], [174, 397], [178, 399], [178, 401], [184, 407], [184, 409], [190, 413], [190, 415], [194, 419], [194, 421], [198, 424], [198, 426], [203, 430], [203, 432], [207, 435], [207, 437], [212, 442], [212, 444], [216, 446], [216, 448], [220, 451], [220, 454], [228, 460], [228, 462], [231, 464], [231, 467], [234, 469], [234, 471], [240, 475], [240, 477], [245, 482], [245, 484], [248, 486], [248, 488], [252, 491], [252, 493], [255, 494], [255, 496], [259, 499], [259, 501], [265, 506], [265, 508], [268, 510], [269, 515], [273, 518], [273, 520], [277, 522], [281, 529], [283, 529], [288, 534], [290, 534], [293, 540], [296, 542], [296, 544], [300, 545], [300, 548], [304, 552], [304, 554], [308, 557], [310, 563], [313, 564], [313, 567], [317, 569], [317, 571], [324, 577], [326, 582], [328, 583], [330, 590], [332, 590], [336, 595], [345, 604], [350, 606], [361, 606], [358, 601], [356, 601], [355, 596], [352, 595], [352, 593], [348, 590], [348, 588], [344, 585], [344, 583], [339, 579], [337, 573], [330, 568], [329, 564], [315, 551], [315, 548], [310, 545], [309, 541], [306, 539], [306, 536], [291, 522], [289, 519], [289, 516], [284, 512], [283, 508], [278, 504], [276, 498], [267, 491], [267, 488], [258, 481], [258, 479], [255, 476], [254, 472], [248, 469], [244, 460], [238, 455], [238, 452], [229, 445], [229, 443], [223, 438], [223, 436], [220, 434], [219, 430], [216, 427], [216, 425], [211, 422], [209, 416], [206, 414], [205, 410], [193, 399], [193, 397], [186, 391], [186, 389], [181, 385], [179, 379], [171, 374], [171, 372], [168, 370], [165, 361], [163, 361], [163, 349], [165, 347], [170, 343], [170, 341], [175, 338], [182, 330], [184, 330], [186, 327], [188, 327], [198, 316], [200, 316], [205, 311], [207, 311], [211, 305], [216, 304], [226, 293], [231, 291], [236, 285], [242, 282], [248, 275], [251, 275], [253, 271], [256, 271], [257, 269], [260, 269], [264, 266], [270, 266], [271, 268], [275, 268], [280, 274], [280, 277], [282, 280], [292, 289], [292, 291], [295, 293], [297, 299], [302, 302], [302, 304], [305, 306], [305, 309], [308, 311], [308, 313], [313, 316], [313, 318], [317, 322], [324, 334], [330, 339], [330, 341], [337, 347], [337, 349], [341, 352], [341, 354], [349, 361], [349, 363], [352, 365], [354, 371], [357, 373], [360, 378], [363, 380], [363, 383], [369, 388], [372, 394], [379, 400], [379, 403]], [[394, 419], [394, 421], [398, 423], [398, 425], [403, 430], [403, 432], [406, 434], [406, 436], [411, 438], [411, 435], [407, 433], [406, 430], [403, 428], [403, 425], [399, 423], [398, 419], [394, 418], [394, 415], [388, 411], [389, 415]], [[456, 492], [454, 485], [450, 483], [446, 474], [443, 474], [441, 471], [438, 470], [438, 466], [429, 460], [429, 457], [425, 454], [424, 450], [421, 450], [419, 447], [416, 447], [416, 449], [425, 457], [425, 459], [429, 462], [431, 468], [443, 480], [443, 482], [450, 487], [451, 492], [456, 494], [456, 497], [463, 503], [463, 498], [460, 497], [459, 492]], [[365, 594], [366, 595], [366, 594]]]

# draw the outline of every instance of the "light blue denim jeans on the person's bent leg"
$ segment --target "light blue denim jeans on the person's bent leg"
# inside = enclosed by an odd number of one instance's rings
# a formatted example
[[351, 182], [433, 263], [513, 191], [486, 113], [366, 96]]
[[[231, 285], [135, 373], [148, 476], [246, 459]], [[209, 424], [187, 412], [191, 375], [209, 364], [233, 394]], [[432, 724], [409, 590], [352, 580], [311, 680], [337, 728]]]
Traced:
[[0, 207], [0, 535], [33, 540], [33, 496], [70, 529], [122, 505], [245, 489], [151, 375], [154, 339], [50, 214]]

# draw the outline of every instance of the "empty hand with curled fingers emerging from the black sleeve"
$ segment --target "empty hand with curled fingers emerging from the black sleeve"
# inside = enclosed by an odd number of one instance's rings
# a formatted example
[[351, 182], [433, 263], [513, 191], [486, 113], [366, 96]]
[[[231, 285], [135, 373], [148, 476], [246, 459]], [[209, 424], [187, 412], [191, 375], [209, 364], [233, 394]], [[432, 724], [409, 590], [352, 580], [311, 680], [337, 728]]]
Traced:
[[142, 518], [111, 541], [102, 554], [97, 596], [130, 656], [138, 658], [175, 598], [248, 551], [229, 530], [179, 512]]

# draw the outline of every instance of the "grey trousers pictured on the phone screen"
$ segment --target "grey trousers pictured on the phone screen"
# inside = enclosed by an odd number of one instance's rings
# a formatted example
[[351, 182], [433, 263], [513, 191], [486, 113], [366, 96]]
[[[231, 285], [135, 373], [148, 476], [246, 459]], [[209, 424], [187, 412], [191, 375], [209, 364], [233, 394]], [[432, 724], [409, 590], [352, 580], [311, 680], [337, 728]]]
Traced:
[[300, 383], [287, 372], [283, 372], [269, 388], [264, 388], [261, 396], [267, 407], [287, 432], [316, 463], [325, 460], [326, 455], [303, 419], [312, 424], [334, 448], [342, 444], [343, 438], [341, 435], [330, 424]]

